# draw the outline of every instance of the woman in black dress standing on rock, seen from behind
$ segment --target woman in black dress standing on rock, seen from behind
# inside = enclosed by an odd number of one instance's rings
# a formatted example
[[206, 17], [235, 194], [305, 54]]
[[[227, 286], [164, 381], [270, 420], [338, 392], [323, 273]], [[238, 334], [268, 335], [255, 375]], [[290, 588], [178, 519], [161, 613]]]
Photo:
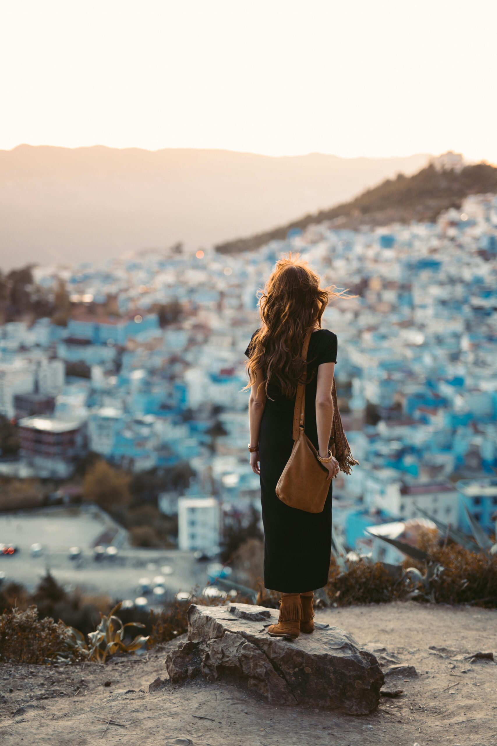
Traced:
[[[332, 477], [338, 461], [329, 453], [332, 383], [337, 336], [321, 328], [330, 292], [299, 257], [276, 263], [259, 302], [262, 325], [245, 351], [250, 381], [250, 466], [260, 475], [265, 532], [265, 587], [282, 593], [273, 636], [296, 638], [314, 630], [313, 592], [328, 582], [332, 548]], [[338, 295], [338, 294], [333, 294]], [[312, 330], [307, 360], [301, 351]], [[305, 432], [328, 471], [322, 513], [288, 507], [276, 484], [290, 457], [297, 385], [306, 380]]]

